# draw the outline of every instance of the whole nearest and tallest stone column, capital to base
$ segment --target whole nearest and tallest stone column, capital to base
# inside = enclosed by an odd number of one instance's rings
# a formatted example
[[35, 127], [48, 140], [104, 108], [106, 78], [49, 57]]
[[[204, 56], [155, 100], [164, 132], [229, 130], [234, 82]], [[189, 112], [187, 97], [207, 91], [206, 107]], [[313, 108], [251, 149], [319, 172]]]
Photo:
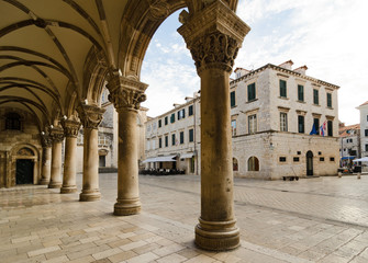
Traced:
[[180, 14], [178, 32], [201, 78], [201, 216], [196, 244], [207, 250], [239, 245], [233, 197], [230, 75], [249, 27], [222, 1]]

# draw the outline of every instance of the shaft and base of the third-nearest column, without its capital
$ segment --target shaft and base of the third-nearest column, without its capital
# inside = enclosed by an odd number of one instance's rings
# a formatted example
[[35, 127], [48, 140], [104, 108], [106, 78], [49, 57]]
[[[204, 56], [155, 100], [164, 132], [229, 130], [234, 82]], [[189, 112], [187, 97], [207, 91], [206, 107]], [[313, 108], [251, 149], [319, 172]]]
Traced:
[[83, 185], [79, 201], [98, 201], [100, 198], [98, 129], [85, 128]]

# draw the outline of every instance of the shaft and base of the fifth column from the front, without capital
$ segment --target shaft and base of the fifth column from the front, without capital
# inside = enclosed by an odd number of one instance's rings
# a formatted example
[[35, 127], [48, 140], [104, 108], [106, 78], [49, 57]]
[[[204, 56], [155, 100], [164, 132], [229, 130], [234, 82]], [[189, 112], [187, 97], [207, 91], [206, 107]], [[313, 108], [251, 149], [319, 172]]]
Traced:
[[62, 141], [54, 140], [52, 149], [52, 172], [48, 188], [62, 187]]

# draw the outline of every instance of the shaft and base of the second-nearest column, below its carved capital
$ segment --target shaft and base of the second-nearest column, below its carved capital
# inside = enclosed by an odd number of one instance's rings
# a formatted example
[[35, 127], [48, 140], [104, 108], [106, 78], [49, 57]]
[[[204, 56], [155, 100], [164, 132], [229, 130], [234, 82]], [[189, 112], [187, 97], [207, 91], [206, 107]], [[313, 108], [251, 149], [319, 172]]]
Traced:
[[136, 110], [119, 111], [118, 202], [114, 215], [126, 216], [141, 210], [138, 190]]

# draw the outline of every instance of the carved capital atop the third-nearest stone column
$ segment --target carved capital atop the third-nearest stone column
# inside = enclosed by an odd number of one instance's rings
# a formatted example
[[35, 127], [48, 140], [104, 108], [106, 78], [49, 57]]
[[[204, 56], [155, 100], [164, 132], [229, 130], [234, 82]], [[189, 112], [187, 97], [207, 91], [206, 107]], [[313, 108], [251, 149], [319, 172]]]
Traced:
[[81, 105], [77, 111], [83, 128], [97, 129], [107, 110], [93, 105]]

